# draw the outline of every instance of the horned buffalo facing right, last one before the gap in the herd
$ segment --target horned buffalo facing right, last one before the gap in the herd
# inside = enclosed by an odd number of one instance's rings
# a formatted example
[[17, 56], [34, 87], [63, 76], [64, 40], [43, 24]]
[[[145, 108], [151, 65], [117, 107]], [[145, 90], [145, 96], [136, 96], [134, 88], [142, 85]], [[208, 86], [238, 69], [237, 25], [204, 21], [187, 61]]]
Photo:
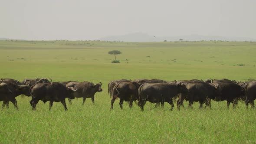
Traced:
[[[75, 98], [83, 98], [82, 105], [85, 104], [86, 98], [91, 98], [92, 103], [94, 104], [94, 95], [96, 92], [102, 92], [102, 83], [93, 84], [92, 82], [69, 82], [66, 87], [77, 88], [77, 91], [74, 92]], [[69, 103], [72, 104], [71, 98], [69, 98]]]

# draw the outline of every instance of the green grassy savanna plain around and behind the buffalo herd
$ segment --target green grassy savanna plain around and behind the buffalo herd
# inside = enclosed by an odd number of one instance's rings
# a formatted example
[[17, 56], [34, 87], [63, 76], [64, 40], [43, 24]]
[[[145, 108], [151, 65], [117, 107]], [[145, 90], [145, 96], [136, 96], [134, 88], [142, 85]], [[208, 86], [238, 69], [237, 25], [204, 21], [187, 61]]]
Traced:
[[[120, 64], [108, 51], [120, 50]], [[95, 105], [82, 98], [67, 104], [39, 101], [36, 111], [30, 97], [18, 96], [19, 111], [0, 108], [0, 143], [256, 143], [256, 110], [226, 108], [212, 101], [212, 109], [169, 111], [147, 102], [144, 111], [119, 99], [110, 111], [107, 84], [113, 79], [256, 79], [256, 43], [98, 41], [0, 41], [0, 77], [51, 78], [53, 81], [102, 82]], [[66, 100], [68, 103], [68, 101]]]

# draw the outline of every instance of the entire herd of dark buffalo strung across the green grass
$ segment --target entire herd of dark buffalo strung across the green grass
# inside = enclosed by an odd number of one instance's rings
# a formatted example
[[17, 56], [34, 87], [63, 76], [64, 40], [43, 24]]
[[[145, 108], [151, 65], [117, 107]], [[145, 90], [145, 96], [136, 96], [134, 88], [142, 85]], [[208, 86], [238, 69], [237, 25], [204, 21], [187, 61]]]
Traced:
[[[91, 98], [94, 104], [94, 96], [96, 92], [102, 92], [102, 82], [94, 84], [93, 82], [52, 82], [52, 79], [25, 79], [19, 82], [15, 79], [0, 79], [0, 101], [3, 101], [3, 108], [9, 107], [11, 101], [16, 109], [18, 109], [16, 96], [31, 96], [30, 105], [36, 110], [36, 104], [39, 100], [46, 103], [49, 101], [49, 110], [53, 106], [53, 102], [61, 102], [65, 110], [66, 98], [69, 104], [72, 99], [83, 98], [82, 105], [86, 98]], [[164, 81], [161, 79], [119, 79], [108, 83], [108, 94], [112, 97], [111, 109], [115, 99], [119, 98], [120, 108], [123, 108], [123, 102], [128, 101], [129, 107], [132, 108], [135, 102], [143, 111], [147, 101], [155, 103], [155, 107], [164, 102], [174, 108], [174, 99], [177, 99], [177, 110], [184, 107], [183, 101], [188, 101], [189, 108], [193, 108], [194, 102], [199, 102], [200, 107], [211, 108], [211, 100], [227, 101], [227, 108], [233, 103], [236, 107], [239, 100], [245, 101], [246, 108], [250, 103], [254, 108], [254, 100], [256, 99], [256, 81], [236, 82], [229, 79], [206, 79], [198, 80], [178, 80]]]

